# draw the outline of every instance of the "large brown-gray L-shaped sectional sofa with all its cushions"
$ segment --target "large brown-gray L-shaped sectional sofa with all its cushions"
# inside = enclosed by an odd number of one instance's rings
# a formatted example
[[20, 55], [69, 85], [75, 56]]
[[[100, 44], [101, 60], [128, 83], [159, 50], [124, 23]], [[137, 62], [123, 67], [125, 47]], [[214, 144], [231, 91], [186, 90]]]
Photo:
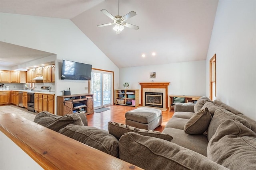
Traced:
[[104, 131], [86, 126], [76, 114], [41, 112], [34, 121], [148, 170], [256, 169], [256, 121], [206, 97], [196, 104], [176, 104], [163, 133], [115, 122]]

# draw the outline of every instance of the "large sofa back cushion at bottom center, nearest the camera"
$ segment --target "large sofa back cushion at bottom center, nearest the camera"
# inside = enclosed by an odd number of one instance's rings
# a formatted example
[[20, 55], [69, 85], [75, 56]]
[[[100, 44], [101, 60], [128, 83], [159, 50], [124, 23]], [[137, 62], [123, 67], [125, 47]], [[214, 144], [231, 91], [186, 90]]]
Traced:
[[148, 170], [226, 169], [210, 159], [175, 143], [138, 133], [125, 133], [119, 140], [120, 159]]

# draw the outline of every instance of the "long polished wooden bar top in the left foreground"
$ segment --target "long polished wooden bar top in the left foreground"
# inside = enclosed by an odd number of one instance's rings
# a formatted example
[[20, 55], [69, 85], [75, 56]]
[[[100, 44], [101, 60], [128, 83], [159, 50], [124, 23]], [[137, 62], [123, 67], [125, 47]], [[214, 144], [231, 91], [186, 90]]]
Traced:
[[141, 169], [14, 113], [0, 115], [0, 130], [44, 169]]

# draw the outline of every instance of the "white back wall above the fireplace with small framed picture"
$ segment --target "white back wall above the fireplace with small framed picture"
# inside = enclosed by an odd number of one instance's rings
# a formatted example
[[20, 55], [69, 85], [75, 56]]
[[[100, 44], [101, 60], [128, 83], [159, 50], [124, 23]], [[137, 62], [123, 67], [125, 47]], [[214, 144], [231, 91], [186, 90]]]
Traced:
[[[205, 60], [150, 66], [120, 68], [119, 88], [129, 82], [130, 89], [140, 89], [139, 82], [170, 82], [168, 93], [177, 95], [205, 96]], [[149, 72], [156, 78], [149, 78]]]

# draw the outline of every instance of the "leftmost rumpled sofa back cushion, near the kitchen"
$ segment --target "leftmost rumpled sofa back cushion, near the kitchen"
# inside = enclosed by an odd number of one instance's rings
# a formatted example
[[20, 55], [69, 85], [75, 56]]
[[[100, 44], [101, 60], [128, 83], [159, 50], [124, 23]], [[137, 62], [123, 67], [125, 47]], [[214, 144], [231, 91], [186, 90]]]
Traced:
[[34, 118], [34, 122], [49, 129], [52, 129], [56, 132], [58, 132], [61, 128], [69, 124], [84, 126], [81, 117], [77, 114], [58, 116], [48, 111], [42, 111], [38, 113]]

